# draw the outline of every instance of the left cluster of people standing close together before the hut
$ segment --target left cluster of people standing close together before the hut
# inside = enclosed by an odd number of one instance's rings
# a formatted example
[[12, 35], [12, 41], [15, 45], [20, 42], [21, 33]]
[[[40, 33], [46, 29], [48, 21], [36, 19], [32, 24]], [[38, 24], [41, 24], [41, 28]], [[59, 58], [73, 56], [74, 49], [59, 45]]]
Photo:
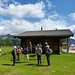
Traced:
[[32, 44], [29, 42], [29, 45], [22, 47], [14, 46], [12, 50], [12, 56], [13, 56], [13, 66], [15, 65], [16, 60], [20, 60], [20, 53], [24, 54], [24, 61], [27, 58], [27, 61], [29, 62], [29, 55], [28, 53], [32, 53]]

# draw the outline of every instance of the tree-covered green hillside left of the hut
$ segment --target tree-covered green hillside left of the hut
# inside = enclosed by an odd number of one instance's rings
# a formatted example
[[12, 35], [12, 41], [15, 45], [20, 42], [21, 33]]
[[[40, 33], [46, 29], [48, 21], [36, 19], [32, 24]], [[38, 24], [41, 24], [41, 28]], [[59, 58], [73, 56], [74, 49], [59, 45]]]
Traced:
[[12, 35], [0, 35], [0, 45], [3, 46], [12, 46], [12, 45], [20, 45], [20, 39], [13, 38]]

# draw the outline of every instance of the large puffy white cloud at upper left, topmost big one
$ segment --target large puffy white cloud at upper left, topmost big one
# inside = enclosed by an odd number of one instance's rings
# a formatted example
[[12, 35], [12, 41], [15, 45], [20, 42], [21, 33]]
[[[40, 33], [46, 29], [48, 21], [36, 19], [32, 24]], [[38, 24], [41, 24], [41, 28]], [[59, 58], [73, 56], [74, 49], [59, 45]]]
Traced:
[[0, 8], [0, 15], [10, 16], [13, 18], [25, 18], [25, 17], [33, 17], [33, 18], [44, 18], [45, 4], [43, 2], [39, 2], [36, 4], [10, 4], [7, 8]]

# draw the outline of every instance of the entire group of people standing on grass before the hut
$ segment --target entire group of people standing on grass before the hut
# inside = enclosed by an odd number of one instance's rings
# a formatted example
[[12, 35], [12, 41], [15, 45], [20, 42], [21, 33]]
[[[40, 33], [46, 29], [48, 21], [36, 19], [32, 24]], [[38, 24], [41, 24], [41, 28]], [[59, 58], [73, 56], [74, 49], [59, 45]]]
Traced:
[[[16, 47], [14, 46], [14, 49], [12, 50], [12, 56], [13, 56], [13, 66], [15, 65], [16, 60], [20, 60], [20, 52], [24, 54], [24, 59], [27, 58], [29, 62], [29, 51], [32, 53], [32, 44], [30, 42], [30, 46], [26, 46], [24, 48], [22, 47]], [[49, 47], [48, 43], [45, 43], [45, 54], [46, 54], [46, 59], [47, 59], [47, 65], [50, 66], [50, 55], [53, 53], [52, 49]], [[35, 48], [35, 54], [37, 57], [37, 64], [41, 65], [42, 64], [42, 45], [39, 43], [37, 44]]]

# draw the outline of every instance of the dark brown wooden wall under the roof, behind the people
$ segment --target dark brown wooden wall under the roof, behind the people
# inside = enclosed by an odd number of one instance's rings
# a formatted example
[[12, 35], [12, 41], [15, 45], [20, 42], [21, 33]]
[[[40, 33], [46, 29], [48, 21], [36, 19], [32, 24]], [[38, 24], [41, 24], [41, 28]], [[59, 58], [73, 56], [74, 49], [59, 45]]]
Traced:
[[28, 45], [29, 42], [32, 42], [33, 45], [33, 53], [35, 52], [35, 46], [38, 43], [42, 44], [43, 53], [45, 53], [44, 45], [45, 42], [48, 42], [50, 48], [53, 50], [54, 53], [59, 53], [59, 46], [60, 46], [60, 39], [59, 37], [23, 37], [21, 38], [21, 46]]

